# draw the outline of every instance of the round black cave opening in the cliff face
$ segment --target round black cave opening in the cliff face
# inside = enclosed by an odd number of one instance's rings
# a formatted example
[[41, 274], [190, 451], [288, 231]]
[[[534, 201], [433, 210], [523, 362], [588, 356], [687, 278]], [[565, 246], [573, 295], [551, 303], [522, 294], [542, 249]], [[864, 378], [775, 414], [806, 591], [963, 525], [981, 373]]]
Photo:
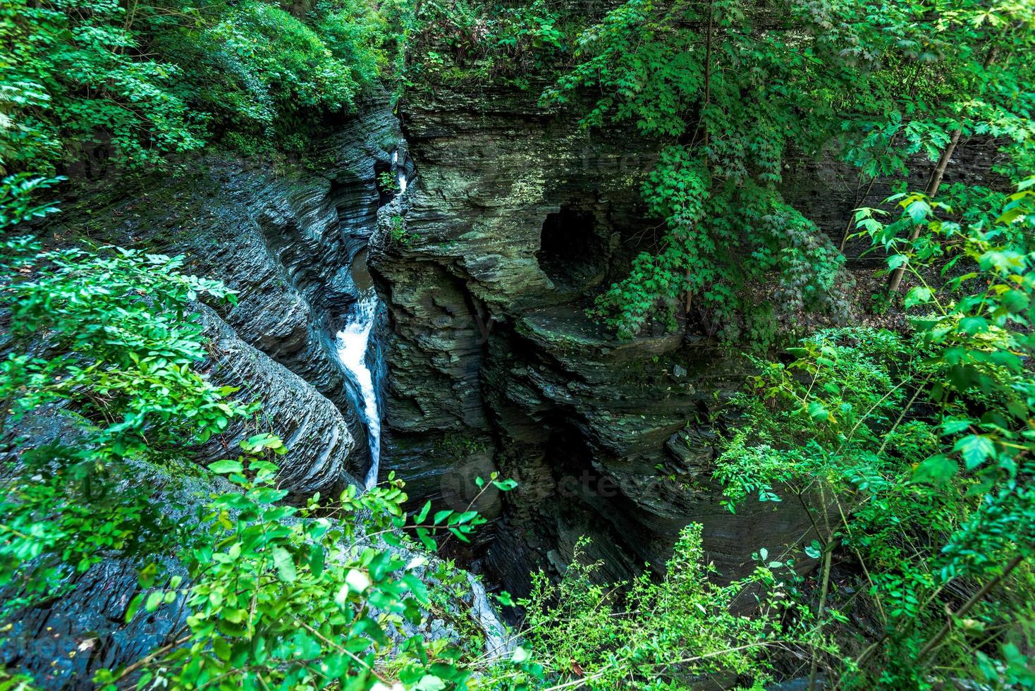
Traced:
[[562, 206], [542, 223], [539, 269], [564, 291], [585, 290], [603, 278], [608, 245], [592, 211]]

